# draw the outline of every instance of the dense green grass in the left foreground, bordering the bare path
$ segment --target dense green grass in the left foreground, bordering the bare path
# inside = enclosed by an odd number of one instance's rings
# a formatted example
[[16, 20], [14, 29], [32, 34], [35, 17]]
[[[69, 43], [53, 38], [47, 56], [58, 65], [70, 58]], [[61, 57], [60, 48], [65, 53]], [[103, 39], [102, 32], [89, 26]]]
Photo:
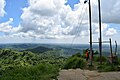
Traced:
[[58, 76], [56, 65], [39, 64], [30, 67], [14, 67], [3, 72], [0, 80], [53, 80]]

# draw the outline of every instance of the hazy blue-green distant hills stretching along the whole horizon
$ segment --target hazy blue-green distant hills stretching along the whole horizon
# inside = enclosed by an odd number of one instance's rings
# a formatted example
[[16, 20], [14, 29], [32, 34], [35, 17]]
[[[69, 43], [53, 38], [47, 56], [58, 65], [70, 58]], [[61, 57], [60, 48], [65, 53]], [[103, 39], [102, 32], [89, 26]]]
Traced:
[[[41, 46], [41, 47], [39, 47]], [[15, 44], [0, 44], [2, 49], [12, 49], [17, 51], [31, 51], [34, 53], [43, 53], [51, 49], [61, 50], [66, 55], [73, 55], [74, 53], [80, 52], [83, 53], [84, 49], [89, 48], [89, 44], [39, 44], [39, 43], [15, 43]], [[40, 48], [40, 49], [39, 49]], [[99, 50], [98, 45], [93, 45], [94, 51]], [[113, 45], [113, 53], [115, 52], [115, 45]], [[120, 45], [117, 49], [118, 56], [120, 57]], [[103, 55], [109, 56], [110, 49], [109, 45], [103, 45]]]

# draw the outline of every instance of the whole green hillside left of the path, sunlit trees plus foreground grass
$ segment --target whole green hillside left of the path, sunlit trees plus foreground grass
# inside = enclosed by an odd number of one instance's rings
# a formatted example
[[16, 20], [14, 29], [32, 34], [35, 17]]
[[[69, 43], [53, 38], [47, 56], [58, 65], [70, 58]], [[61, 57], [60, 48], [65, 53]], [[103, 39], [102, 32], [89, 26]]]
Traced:
[[[53, 51], [52, 51], [53, 52]], [[65, 58], [47, 51], [44, 54], [0, 50], [0, 80], [53, 80]], [[55, 55], [54, 55], [55, 53]], [[49, 54], [49, 55], [48, 55]]]

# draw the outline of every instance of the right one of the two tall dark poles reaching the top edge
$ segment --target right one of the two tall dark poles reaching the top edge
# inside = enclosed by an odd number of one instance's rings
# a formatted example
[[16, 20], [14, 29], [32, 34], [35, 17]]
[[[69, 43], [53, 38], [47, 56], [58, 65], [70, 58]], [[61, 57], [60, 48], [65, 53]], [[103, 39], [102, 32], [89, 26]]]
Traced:
[[100, 0], [98, 0], [98, 9], [99, 9], [99, 52], [100, 52], [100, 64], [102, 64], [102, 31], [101, 31], [101, 8], [100, 8]]

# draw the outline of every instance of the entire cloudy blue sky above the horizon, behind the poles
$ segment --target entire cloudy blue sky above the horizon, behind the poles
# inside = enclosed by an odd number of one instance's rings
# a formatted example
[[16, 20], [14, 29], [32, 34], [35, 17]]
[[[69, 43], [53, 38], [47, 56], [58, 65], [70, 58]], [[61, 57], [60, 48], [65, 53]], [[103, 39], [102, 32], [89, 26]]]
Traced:
[[[93, 41], [98, 41], [98, 4], [91, 0]], [[102, 39], [120, 44], [120, 1], [101, 0]], [[89, 43], [84, 0], [0, 0], [0, 43]]]

